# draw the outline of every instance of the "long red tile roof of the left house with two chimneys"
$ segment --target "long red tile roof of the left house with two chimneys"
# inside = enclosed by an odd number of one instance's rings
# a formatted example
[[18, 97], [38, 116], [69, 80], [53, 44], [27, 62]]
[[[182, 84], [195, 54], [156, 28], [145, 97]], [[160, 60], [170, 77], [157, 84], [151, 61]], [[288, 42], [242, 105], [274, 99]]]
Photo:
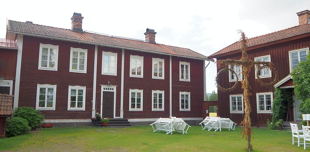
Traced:
[[193, 50], [167, 46], [163, 44], [153, 44], [150, 42], [132, 40], [122, 37], [113, 37], [91, 32], [74, 32], [70, 29], [55, 28], [51, 26], [31, 24], [25, 22], [18, 22], [9, 20], [9, 32], [11, 33], [23, 33], [25, 35], [37, 35], [43, 37], [55, 37], [60, 39], [67, 39], [73, 41], [90, 42], [98, 45], [108, 45], [115, 47], [123, 47], [128, 49], [137, 49], [150, 51], [154, 53], [171, 54], [195, 59], [208, 59], [208, 57], [199, 54]]

